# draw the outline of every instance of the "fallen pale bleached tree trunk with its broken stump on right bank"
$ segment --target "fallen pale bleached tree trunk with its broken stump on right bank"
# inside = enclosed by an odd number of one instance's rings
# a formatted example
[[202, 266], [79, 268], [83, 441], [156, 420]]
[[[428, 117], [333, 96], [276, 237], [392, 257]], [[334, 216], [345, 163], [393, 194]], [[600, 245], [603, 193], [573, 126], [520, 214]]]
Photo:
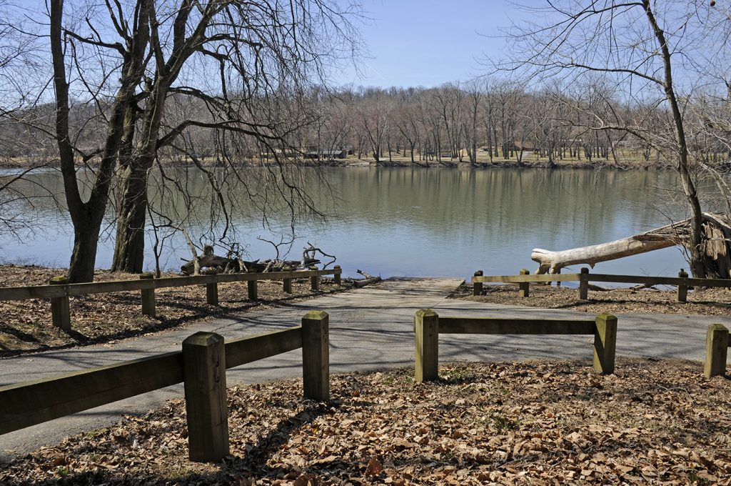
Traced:
[[[731, 219], [718, 214], [702, 214], [701, 229], [703, 236], [697, 244], [701, 258], [705, 261], [703, 277], [730, 278], [731, 269]], [[646, 233], [618, 239], [614, 242], [593, 244], [588, 247], [572, 248], [563, 251], [549, 251], [536, 248], [531, 259], [539, 263], [537, 274], [560, 273], [569, 265], [586, 263], [594, 267], [602, 261], [616, 260], [630, 255], [639, 255], [653, 250], [683, 244], [686, 248], [694, 244], [692, 233], [694, 218], [656, 228]], [[690, 253], [690, 252], [689, 252]], [[692, 258], [692, 255], [691, 255]], [[695, 277], [695, 267], [691, 266]]]

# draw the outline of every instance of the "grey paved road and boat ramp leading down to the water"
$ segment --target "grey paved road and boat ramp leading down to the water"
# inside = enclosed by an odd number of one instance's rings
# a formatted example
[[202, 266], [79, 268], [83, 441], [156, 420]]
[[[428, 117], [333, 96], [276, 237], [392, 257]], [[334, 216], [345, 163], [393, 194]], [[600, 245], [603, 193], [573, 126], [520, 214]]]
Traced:
[[[212, 331], [227, 340], [300, 324], [309, 310], [330, 314], [330, 371], [376, 370], [414, 362], [414, 313], [431, 308], [439, 315], [480, 315], [502, 318], [587, 318], [586, 313], [542, 310], [447, 299], [461, 279], [391, 279], [379, 285], [317, 299], [254, 310], [245, 317], [193, 324], [183, 329], [138, 337], [114, 345], [95, 345], [0, 360], [0, 385], [48, 378], [84, 368], [178, 351], [182, 341], [198, 331]], [[702, 361], [705, 329], [731, 318], [698, 315], [619, 315], [617, 354]], [[590, 358], [590, 336], [449, 335], [440, 338], [439, 359], [523, 360]], [[228, 384], [256, 383], [301, 375], [301, 351], [291, 351], [227, 372]], [[170, 386], [73, 416], [0, 435], [0, 460], [56, 444], [74, 433], [105, 427], [120, 414], [143, 414], [165, 400], [182, 397], [183, 386]]]

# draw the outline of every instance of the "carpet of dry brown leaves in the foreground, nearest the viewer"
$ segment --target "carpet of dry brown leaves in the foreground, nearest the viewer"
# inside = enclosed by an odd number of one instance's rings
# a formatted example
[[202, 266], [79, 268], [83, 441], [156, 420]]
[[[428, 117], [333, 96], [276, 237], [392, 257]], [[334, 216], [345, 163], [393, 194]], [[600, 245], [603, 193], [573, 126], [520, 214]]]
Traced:
[[731, 484], [731, 388], [700, 364], [449, 364], [336, 375], [333, 400], [300, 380], [229, 389], [231, 456], [189, 463], [181, 400], [40, 449], [2, 484]]

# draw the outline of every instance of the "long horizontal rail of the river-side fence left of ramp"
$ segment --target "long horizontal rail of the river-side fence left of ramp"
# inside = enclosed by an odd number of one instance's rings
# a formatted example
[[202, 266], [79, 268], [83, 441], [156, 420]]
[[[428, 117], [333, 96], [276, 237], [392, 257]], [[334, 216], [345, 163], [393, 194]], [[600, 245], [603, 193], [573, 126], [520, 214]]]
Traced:
[[215, 275], [192, 275], [190, 277], [164, 277], [148, 280], [114, 280], [111, 282], [68, 283], [65, 285], [30, 285], [26, 287], [1, 287], [0, 301], [51, 299], [53, 297], [74, 297], [88, 294], [139, 291], [155, 288], [186, 287], [212, 283], [251, 282], [256, 280], [284, 280], [289, 278], [317, 277], [340, 274], [333, 270], [298, 270], [295, 272], [236, 273]]

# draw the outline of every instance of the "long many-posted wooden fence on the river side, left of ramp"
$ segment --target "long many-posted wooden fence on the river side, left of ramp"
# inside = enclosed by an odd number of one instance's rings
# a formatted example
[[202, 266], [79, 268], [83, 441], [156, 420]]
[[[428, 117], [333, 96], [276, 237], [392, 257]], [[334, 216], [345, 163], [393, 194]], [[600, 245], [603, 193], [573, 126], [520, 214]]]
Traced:
[[88, 294], [110, 294], [113, 292], [140, 291], [142, 313], [155, 316], [155, 289], [205, 285], [205, 299], [208, 304], [219, 304], [219, 283], [246, 282], [249, 300], [257, 300], [259, 280], [282, 280], [284, 291], [292, 293], [292, 280], [310, 278], [312, 291], [319, 288], [321, 275], [333, 275], [336, 285], [341, 283], [342, 270], [336, 265], [332, 270], [298, 270], [294, 272], [236, 273], [193, 275], [190, 277], [154, 278], [154, 274], [140, 274], [140, 280], [114, 280], [111, 282], [68, 283], [66, 277], [53, 277], [50, 285], [26, 287], [0, 287], [0, 301], [50, 299], [53, 325], [64, 330], [71, 329], [69, 297]]

